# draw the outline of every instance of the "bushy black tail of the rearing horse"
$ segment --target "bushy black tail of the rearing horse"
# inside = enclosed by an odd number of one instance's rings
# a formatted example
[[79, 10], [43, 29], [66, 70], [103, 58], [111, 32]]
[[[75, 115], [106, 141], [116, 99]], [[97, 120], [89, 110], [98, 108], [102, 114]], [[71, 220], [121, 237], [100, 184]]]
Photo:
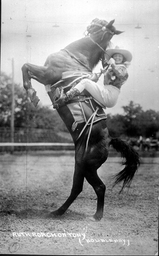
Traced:
[[130, 187], [133, 176], [135, 175], [138, 167], [141, 164], [141, 158], [139, 157], [138, 152], [125, 141], [122, 141], [118, 138], [112, 138], [110, 144], [113, 146], [114, 149], [117, 150], [117, 152], [120, 152], [121, 156], [125, 159], [125, 162], [123, 162], [125, 168], [113, 176], [115, 178], [115, 181], [113, 182], [113, 187], [116, 184], [124, 181], [121, 189], [122, 191], [126, 185]]

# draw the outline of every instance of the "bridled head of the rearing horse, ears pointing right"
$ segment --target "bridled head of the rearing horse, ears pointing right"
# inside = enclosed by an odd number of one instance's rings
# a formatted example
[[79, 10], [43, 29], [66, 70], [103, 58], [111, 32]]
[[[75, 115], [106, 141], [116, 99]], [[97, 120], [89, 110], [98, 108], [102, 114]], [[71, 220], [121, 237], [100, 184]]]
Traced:
[[96, 18], [87, 27], [88, 35], [97, 34], [99, 32], [101, 33], [102, 35], [101, 39], [103, 40], [104, 35], [106, 33], [111, 34], [111, 36], [113, 36], [114, 34], [122, 33], [122, 31], [116, 30], [116, 28], [113, 26], [113, 23], [114, 23], [114, 20], [111, 20], [108, 23], [106, 20], [99, 20]]

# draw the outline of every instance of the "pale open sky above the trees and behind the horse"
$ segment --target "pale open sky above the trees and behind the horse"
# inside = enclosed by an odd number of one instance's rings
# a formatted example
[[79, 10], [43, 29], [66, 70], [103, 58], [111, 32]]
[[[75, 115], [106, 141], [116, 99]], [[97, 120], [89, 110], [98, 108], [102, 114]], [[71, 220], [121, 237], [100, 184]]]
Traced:
[[[128, 80], [119, 100], [106, 113], [122, 114], [130, 101], [144, 111], [159, 111], [159, 0], [2, 0], [0, 70], [12, 74], [23, 86], [21, 67], [29, 62], [44, 65], [49, 54], [84, 37], [95, 18], [115, 19], [113, 46], [133, 55]], [[55, 27], [54, 25], [57, 25]], [[141, 27], [141, 28], [135, 28]], [[29, 37], [28, 37], [29, 36]], [[95, 67], [99, 72], [101, 63]], [[103, 76], [99, 83], [103, 83]], [[51, 107], [44, 85], [32, 80], [40, 104]]]

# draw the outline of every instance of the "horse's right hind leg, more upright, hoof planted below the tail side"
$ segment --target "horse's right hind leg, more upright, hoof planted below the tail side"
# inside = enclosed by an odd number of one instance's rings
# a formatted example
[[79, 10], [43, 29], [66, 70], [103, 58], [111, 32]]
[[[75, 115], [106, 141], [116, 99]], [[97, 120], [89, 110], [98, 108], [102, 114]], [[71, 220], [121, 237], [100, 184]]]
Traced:
[[97, 195], [97, 211], [94, 214], [93, 218], [96, 220], [100, 220], [103, 217], [106, 186], [100, 180], [97, 174], [97, 170], [94, 170], [93, 172], [88, 170], [85, 174], [85, 178], [87, 182], [93, 187]]

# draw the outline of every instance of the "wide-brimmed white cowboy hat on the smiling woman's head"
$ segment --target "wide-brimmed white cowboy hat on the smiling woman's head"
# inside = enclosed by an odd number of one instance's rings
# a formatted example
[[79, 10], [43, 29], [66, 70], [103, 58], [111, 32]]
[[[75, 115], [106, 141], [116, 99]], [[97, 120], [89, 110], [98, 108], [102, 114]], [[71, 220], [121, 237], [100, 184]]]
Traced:
[[123, 62], [125, 61], [132, 61], [132, 54], [127, 51], [127, 50], [123, 50], [123, 49], [119, 49], [119, 47], [115, 47], [115, 49], [108, 49], [106, 51], [106, 60], [109, 61], [110, 58], [113, 57], [114, 54], [122, 54], [124, 56], [123, 58]]

